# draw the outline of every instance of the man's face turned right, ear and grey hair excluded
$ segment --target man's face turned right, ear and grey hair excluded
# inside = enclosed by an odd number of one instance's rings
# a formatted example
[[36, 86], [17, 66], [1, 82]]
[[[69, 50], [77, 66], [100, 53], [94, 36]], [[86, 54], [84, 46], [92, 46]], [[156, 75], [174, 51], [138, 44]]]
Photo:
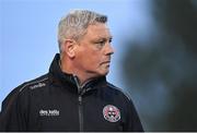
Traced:
[[114, 53], [111, 41], [112, 35], [106, 24], [90, 25], [77, 46], [74, 62], [78, 70], [92, 76], [106, 75]]

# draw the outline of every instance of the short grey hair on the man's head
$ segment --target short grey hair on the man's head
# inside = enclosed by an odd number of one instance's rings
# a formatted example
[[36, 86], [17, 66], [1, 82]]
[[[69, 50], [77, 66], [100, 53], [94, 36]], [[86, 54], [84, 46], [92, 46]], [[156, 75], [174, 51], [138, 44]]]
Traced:
[[61, 53], [61, 46], [65, 39], [78, 40], [86, 33], [86, 28], [91, 24], [106, 23], [107, 16], [89, 11], [89, 10], [72, 10], [62, 17], [58, 25], [58, 44]]

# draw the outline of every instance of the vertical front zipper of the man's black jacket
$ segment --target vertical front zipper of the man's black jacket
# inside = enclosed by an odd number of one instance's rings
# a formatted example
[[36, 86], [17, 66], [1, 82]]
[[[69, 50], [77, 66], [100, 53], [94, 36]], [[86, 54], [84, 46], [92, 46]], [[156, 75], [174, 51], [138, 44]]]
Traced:
[[83, 105], [82, 105], [82, 86], [80, 86], [78, 77], [73, 75], [76, 84], [78, 86], [78, 112], [79, 112], [79, 129], [80, 132], [83, 131]]

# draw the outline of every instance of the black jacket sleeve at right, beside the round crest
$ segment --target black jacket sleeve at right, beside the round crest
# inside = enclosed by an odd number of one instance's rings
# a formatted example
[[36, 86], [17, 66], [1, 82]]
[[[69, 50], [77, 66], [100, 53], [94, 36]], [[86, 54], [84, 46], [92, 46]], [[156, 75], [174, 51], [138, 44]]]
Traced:
[[143, 128], [140, 121], [140, 118], [138, 116], [138, 112], [129, 98], [127, 100], [127, 122], [125, 126], [125, 131], [130, 131], [130, 132], [143, 132]]

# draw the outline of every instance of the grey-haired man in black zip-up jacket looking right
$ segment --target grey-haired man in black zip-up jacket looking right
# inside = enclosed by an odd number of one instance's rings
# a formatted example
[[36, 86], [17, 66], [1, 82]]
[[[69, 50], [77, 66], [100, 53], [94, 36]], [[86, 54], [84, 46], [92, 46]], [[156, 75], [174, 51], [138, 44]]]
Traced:
[[60, 53], [3, 100], [0, 131], [143, 131], [130, 98], [105, 78], [114, 53], [106, 22], [88, 10], [61, 19]]

